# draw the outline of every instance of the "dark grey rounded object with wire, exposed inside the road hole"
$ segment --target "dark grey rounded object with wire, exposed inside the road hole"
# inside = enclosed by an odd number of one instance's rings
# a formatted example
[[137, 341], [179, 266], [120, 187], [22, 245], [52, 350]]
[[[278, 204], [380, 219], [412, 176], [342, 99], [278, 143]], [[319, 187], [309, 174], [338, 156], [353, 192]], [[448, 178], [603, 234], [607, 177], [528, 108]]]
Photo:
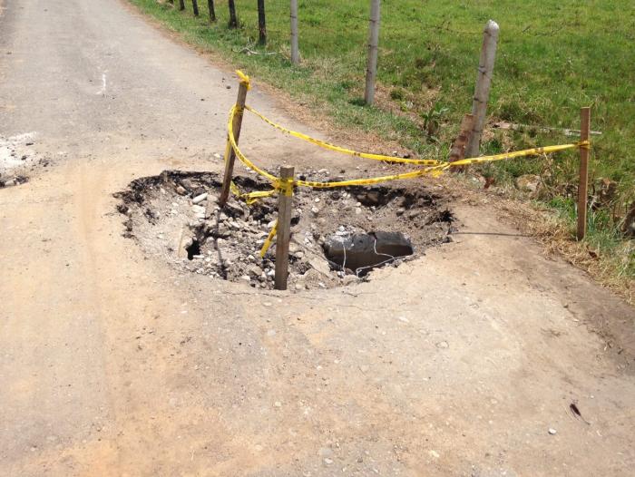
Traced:
[[371, 232], [348, 237], [331, 236], [324, 244], [324, 253], [340, 268], [348, 268], [364, 277], [373, 268], [413, 255], [415, 249], [400, 232]]

